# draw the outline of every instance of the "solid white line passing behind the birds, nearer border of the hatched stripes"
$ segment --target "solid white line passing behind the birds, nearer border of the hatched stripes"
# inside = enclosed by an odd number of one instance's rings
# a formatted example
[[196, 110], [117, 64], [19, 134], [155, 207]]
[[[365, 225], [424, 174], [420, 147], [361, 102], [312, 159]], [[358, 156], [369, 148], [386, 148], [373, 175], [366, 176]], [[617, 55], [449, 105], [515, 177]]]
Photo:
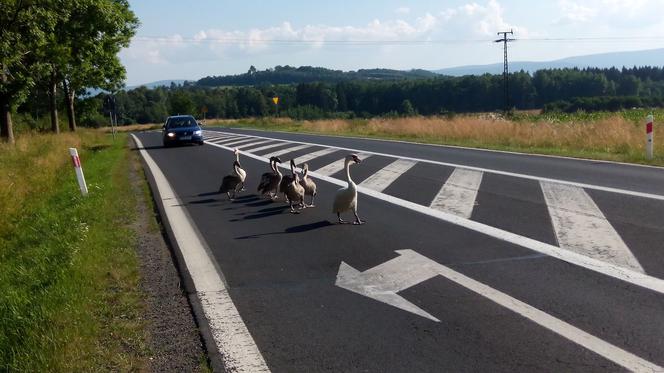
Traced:
[[[229, 150], [229, 151], [233, 150], [232, 148], [229, 148], [229, 147], [223, 146], [223, 145], [216, 145], [216, 144], [210, 144], [210, 145], [221, 148], [221, 149]], [[255, 154], [251, 154], [251, 153], [243, 152], [243, 151], [240, 151], [240, 153], [242, 153], [243, 155], [245, 155], [246, 157], [249, 157], [249, 158], [253, 158], [253, 159], [265, 162], [265, 163], [268, 162], [267, 158], [263, 158], [261, 156], [255, 155]], [[279, 167], [281, 167], [283, 169], [288, 169], [288, 167], [284, 166], [284, 165], [279, 165]], [[347, 183], [345, 181], [334, 179], [334, 178], [329, 177], [329, 176], [321, 175], [321, 174], [316, 173], [315, 171], [311, 171], [309, 173], [309, 175], [311, 175], [312, 177], [317, 178], [319, 180], [327, 181], [329, 183], [336, 184], [336, 185], [339, 185], [339, 186], [346, 186], [347, 185]], [[482, 223], [479, 223], [479, 222], [476, 222], [476, 221], [473, 221], [473, 220], [465, 219], [465, 218], [462, 218], [462, 217], [459, 217], [459, 216], [456, 216], [456, 215], [453, 215], [453, 214], [450, 214], [450, 213], [434, 210], [434, 209], [431, 209], [431, 208], [426, 207], [426, 206], [418, 205], [414, 202], [410, 202], [410, 201], [406, 201], [406, 200], [403, 200], [403, 199], [400, 199], [400, 198], [397, 198], [397, 197], [390, 196], [388, 194], [376, 192], [376, 191], [371, 190], [369, 188], [358, 186], [357, 191], [362, 193], [362, 194], [365, 194], [367, 196], [370, 196], [370, 197], [373, 197], [373, 198], [376, 198], [376, 199], [379, 199], [379, 200], [382, 200], [382, 201], [385, 201], [385, 202], [388, 202], [388, 203], [391, 203], [391, 204], [394, 204], [394, 205], [397, 205], [397, 206], [400, 206], [400, 207], [403, 207], [403, 208], [407, 208], [409, 210], [419, 212], [421, 214], [428, 215], [428, 216], [440, 219], [442, 221], [445, 221], [445, 222], [448, 222], [448, 223], [451, 223], [451, 224], [454, 224], [454, 225], [458, 225], [458, 226], [470, 229], [472, 231], [475, 231], [475, 232], [478, 232], [478, 233], [481, 233], [481, 234], [485, 234], [487, 236], [497, 238], [497, 239], [505, 241], [505, 242], [509, 242], [509, 243], [517, 245], [517, 246], [524, 247], [526, 249], [537, 251], [539, 253], [551, 256], [553, 258], [565, 261], [567, 263], [574, 264], [576, 266], [579, 266], [579, 267], [582, 267], [582, 268], [585, 268], [585, 269], [589, 269], [591, 271], [595, 271], [595, 272], [601, 273], [603, 275], [610, 276], [610, 277], [613, 277], [615, 279], [625, 281], [625, 282], [628, 282], [628, 283], [636, 285], [636, 286], [640, 286], [642, 288], [650, 289], [650, 290], [658, 292], [660, 294], [664, 294], [664, 280], [662, 280], [662, 279], [659, 279], [659, 278], [656, 278], [656, 277], [653, 277], [653, 276], [649, 276], [649, 275], [644, 274], [644, 273], [639, 273], [639, 272], [636, 272], [636, 271], [632, 271], [632, 270], [629, 270], [627, 268], [622, 268], [622, 267], [616, 266], [614, 264], [605, 263], [605, 262], [602, 262], [600, 260], [589, 258], [587, 256], [577, 254], [577, 253], [569, 251], [569, 250], [561, 249], [557, 246], [553, 246], [553, 245], [550, 245], [550, 244], [547, 244], [547, 243], [544, 243], [544, 242], [536, 241], [536, 240], [533, 240], [532, 238], [520, 236], [520, 235], [512, 233], [512, 232], [504, 231], [502, 229], [498, 229], [498, 228], [495, 228], [495, 227], [492, 227], [492, 226], [489, 226], [489, 225], [486, 225], [486, 224], [482, 224]]]

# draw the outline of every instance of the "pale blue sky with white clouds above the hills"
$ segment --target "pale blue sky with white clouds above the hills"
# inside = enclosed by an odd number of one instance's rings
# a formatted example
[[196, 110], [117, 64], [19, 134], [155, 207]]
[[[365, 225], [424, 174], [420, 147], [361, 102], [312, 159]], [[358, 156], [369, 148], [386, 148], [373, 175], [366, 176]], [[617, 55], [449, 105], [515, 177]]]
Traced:
[[127, 85], [278, 65], [441, 69], [664, 48], [664, 0], [130, 0]]

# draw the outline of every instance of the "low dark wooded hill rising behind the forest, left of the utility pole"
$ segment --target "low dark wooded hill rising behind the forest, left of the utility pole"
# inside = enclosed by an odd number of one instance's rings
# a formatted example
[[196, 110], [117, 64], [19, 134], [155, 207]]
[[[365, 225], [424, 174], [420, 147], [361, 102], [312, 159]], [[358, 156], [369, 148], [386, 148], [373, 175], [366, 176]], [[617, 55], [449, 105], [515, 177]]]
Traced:
[[437, 76], [427, 70], [361, 69], [357, 71], [331, 70], [312, 66], [277, 66], [274, 69], [250, 70], [244, 74], [208, 76], [196, 82], [199, 86], [244, 86], [262, 84], [299, 84], [311, 82], [337, 83], [350, 80], [426, 79]]

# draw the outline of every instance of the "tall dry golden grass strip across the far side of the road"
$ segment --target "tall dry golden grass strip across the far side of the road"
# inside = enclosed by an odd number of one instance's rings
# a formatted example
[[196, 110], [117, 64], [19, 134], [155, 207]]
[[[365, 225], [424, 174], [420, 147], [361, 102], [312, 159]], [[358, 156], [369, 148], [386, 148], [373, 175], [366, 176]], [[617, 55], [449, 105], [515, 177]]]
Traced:
[[[657, 136], [664, 130], [659, 123], [664, 111], [654, 114]], [[315, 121], [264, 118], [208, 121], [208, 124], [664, 166], [664, 143], [657, 138], [654, 159], [645, 157], [646, 115], [645, 110], [629, 110], [592, 114], [517, 113], [510, 118], [494, 114]]]

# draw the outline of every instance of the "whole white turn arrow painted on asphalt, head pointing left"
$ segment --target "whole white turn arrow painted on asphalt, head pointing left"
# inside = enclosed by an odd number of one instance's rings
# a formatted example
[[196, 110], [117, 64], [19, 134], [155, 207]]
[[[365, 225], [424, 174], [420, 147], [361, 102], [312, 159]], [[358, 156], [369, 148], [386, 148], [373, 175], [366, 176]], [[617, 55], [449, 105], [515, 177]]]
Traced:
[[440, 275], [630, 371], [661, 372], [664, 370], [664, 368], [631, 352], [599, 339], [572, 324], [473, 280], [413, 250], [397, 250], [396, 252], [399, 257], [364, 272], [359, 272], [348, 264], [341, 262], [335, 284], [341, 288], [438, 322], [438, 319], [396, 293]]

